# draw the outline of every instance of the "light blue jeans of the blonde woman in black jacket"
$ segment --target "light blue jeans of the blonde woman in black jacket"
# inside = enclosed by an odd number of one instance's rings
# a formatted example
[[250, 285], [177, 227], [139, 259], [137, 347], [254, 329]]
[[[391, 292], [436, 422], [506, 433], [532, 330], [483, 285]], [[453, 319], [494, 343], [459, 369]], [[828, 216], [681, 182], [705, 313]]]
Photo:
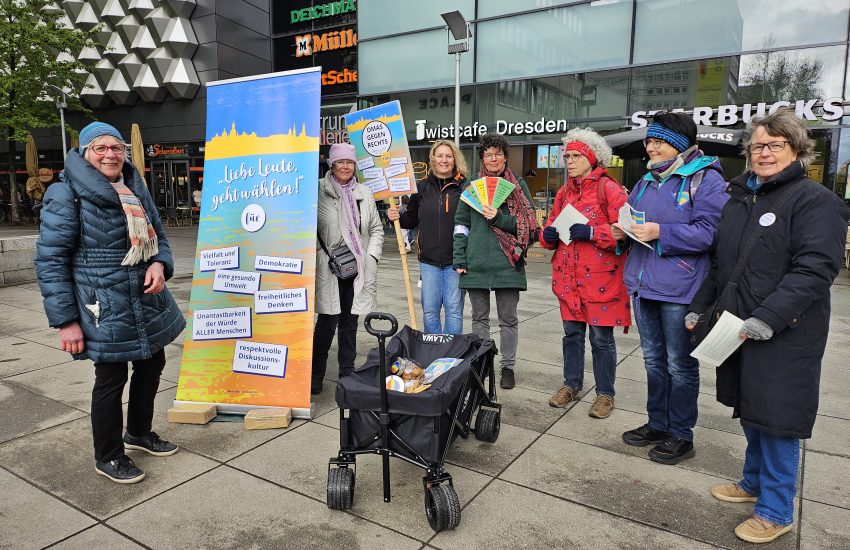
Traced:
[[[463, 334], [463, 291], [460, 274], [452, 266], [419, 263], [422, 277], [422, 321], [426, 334]], [[440, 308], [446, 310], [445, 325], [440, 324]]]

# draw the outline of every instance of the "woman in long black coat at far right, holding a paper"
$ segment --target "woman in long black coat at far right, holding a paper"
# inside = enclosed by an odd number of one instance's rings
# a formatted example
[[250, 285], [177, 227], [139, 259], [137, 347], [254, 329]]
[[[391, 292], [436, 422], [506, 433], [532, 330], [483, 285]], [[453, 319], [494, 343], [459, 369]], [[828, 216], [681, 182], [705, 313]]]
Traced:
[[745, 319], [740, 350], [717, 369], [717, 400], [733, 408], [747, 438], [743, 475], [711, 494], [755, 503], [735, 534], [759, 543], [793, 527], [800, 439], [812, 436], [817, 416], [829, 289], [850, 211], [806, 177], [814, 141], [793, 108], [750, 122], [744, 146], [750, 170], [730, 182], [712, 269], [686, 322], [693, 329], [727, 289]]

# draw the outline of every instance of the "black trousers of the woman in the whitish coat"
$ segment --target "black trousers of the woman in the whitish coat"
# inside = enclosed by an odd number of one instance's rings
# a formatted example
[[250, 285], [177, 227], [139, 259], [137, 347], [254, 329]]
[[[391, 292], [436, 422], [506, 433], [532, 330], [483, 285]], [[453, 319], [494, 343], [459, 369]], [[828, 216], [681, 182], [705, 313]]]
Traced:
[[[354, 303], [354, 278], [338, 279], [339, 315], [319, 314], [313, 332], [313, 384], [325, 379], [328, 367], [328, 351], [331, 349], [334, 332], [337, 333], [337, 359], [340, 378], [354, 371], [357, 356], [357, 315], [351, 314]], [[337, 327], [339, 330], [337, 330]]]

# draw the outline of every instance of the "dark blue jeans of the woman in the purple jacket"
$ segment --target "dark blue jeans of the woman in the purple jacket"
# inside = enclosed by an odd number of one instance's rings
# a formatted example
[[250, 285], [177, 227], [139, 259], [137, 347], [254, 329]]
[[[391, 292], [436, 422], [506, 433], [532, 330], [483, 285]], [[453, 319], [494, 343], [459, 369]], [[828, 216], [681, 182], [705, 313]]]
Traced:
[[693, 441], [697, 423], [699, 361], [691, 357], [687, 304], [641, 298], [636, 308], [646, 367], [649, 427]]

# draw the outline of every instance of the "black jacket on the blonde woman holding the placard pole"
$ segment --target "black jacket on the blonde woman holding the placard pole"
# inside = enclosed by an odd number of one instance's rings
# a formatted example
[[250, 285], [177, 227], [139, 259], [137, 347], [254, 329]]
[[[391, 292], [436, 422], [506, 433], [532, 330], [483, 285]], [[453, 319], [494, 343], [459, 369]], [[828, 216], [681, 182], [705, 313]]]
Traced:
[[441, 179], [428, 172], [419, 182], [419, 192], [410, 197], [407, 210], [399, 216], [405, 229], [419, 228], [419, 261], [446, 267], [452, 265], [452, 233], [455, 211], [466, 178]]

